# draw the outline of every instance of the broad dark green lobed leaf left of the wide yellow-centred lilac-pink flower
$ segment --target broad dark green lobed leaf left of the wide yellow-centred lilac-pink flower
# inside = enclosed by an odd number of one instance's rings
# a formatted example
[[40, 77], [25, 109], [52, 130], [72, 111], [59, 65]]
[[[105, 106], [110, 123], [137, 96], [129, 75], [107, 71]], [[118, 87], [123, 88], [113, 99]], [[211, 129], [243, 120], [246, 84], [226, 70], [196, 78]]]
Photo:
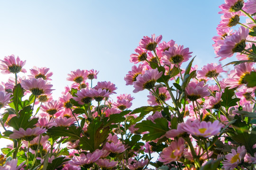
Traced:
[[168, 121], [165, 118], [157, 118], [153, 123], [151, 120], [144, 120], [141, 123], [137, 123], [135, 128], [139, 128], [138, 132], [146, 132], [148, 134], [144, 134], [142, 139], [146, 141], [155, 140], [163, 135], [169, 130]]

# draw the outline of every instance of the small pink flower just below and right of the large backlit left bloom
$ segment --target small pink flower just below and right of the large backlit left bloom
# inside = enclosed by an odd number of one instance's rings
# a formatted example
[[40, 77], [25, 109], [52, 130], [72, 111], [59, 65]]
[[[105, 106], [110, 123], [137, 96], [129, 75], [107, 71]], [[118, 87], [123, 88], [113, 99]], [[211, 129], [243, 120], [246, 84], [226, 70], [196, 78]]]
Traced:
[[45, 105], [41, 105], [41, 110], [45, 111], [50, 115], [54, 115], [57, 111], [63, 108], [63, 103], [60, 101], [52, 100], [51, 102], [45, 103]]

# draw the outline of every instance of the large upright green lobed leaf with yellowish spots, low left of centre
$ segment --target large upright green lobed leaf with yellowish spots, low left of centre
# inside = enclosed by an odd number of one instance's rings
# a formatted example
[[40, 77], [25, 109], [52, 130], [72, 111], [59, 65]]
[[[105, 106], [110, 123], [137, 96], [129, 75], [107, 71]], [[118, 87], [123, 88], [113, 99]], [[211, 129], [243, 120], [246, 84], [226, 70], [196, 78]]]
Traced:
[[93, 152], [96, 149], [99, 149], [102, 143], [107, 140], [109, 133], [110, 127], [103, 128], [102, 121], [100, 121], [99, 117], [96, 117], [87, 128], [87, 134], [89, 137], [83, 136], [80, 138], [80, 147], [83, 150]]

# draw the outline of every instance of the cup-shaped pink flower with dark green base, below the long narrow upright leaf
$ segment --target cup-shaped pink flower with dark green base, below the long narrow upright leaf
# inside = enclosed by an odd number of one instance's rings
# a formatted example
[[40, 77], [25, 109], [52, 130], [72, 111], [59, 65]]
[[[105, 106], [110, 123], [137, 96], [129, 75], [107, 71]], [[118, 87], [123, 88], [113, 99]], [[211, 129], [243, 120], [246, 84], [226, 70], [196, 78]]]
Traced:
[[207, 89], [208, 85], [204, 85], [204, 82], [190, 82], [185, 87], [185, 93], [190, 101], [196, 101], [205, 96], [209, 96], [210, 92]]

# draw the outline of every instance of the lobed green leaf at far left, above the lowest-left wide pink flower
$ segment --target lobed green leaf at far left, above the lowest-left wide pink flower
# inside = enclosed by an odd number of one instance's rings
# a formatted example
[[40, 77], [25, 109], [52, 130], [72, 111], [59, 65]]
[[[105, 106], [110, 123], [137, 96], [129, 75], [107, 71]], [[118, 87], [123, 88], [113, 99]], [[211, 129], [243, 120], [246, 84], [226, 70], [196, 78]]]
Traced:
[[14, 129], [18, 130], [22, 127], [24, 130], [27, 128], [35, 127], [35, 124], [38, 122], [38, 118], [31, 119], [32, 116], [32, 109], [31, 106], [26, 106], [22, 110], [19, 110], [18, 115], [19, 117], [15, 116], [9, 120], [9, 126], [13, 127]]

